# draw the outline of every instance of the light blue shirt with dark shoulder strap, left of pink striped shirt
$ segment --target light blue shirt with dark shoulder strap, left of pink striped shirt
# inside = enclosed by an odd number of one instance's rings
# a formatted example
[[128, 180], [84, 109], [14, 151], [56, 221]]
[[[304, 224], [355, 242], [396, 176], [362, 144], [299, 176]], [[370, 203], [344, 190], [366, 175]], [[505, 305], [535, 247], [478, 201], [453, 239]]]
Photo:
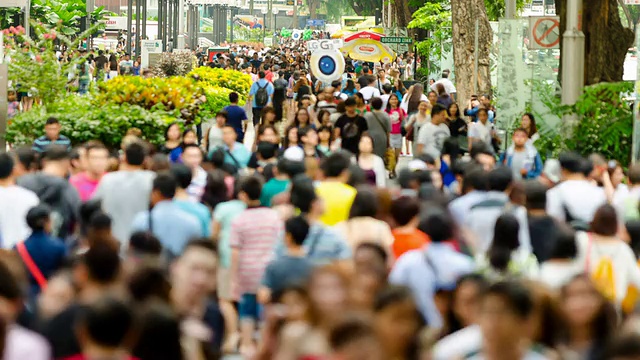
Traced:
[[[201, 236], [198, 219], [181, 210], [180, 206], [171, 200], [157, 203], [151, 210], [151, 219], [151, 232], [174, 256], [180, 255], [191, 239]], [[149, 231], [149, 211], [138, 213], [131, 228], [133, 232]]]

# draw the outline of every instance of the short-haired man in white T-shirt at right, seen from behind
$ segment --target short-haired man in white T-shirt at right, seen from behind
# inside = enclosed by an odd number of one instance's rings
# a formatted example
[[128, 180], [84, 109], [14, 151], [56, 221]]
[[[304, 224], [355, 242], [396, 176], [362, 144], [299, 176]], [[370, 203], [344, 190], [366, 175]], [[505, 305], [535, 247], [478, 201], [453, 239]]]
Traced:
[[562, 182], [547, 191], [547, 213], [561, 222], [591, 223], [596, 210], [607, 202], [604, 189], [591, 183], [583, 173], [587, 160], [577, 153], [566, 152], [558, 158]]

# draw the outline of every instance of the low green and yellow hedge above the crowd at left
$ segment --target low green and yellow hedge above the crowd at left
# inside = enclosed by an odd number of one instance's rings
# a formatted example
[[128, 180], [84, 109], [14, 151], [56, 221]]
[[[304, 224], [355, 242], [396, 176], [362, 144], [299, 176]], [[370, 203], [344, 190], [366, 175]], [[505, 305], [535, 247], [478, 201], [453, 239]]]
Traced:
[[142, 130], [151, 143], [161, 144], [168, 123], [184, 123], [184, 120], [163, 111], [149, 111], [131, 104], [96, 106], [95, 99], [91, 97], [70, 95], [46, 108], [39, 106], [18, 114], [7, 128], [7, 141], [15, 145], [31, 144], [43, 135], [44, 123], [50, 116], [60, 120], [62, 133], [73, 144], [97, 139], [112, 149], [120, 146], [124, 134], [132, 127]]

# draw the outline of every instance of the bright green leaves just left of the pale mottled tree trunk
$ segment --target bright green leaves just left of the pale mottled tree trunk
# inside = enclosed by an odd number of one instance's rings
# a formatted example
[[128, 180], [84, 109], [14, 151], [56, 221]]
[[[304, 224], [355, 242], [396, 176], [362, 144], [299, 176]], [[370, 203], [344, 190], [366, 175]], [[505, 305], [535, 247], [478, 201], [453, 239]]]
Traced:
[[427, 2], [413, 13], [410, 29], [423, 29], [429, 32], [427, 39], [418, 43], [418, 53], [428, 59], [422, 61], [427, 74], [440, 71], [440, 59], [443, 53], [451, 51], [451, 10], [443, 3]]

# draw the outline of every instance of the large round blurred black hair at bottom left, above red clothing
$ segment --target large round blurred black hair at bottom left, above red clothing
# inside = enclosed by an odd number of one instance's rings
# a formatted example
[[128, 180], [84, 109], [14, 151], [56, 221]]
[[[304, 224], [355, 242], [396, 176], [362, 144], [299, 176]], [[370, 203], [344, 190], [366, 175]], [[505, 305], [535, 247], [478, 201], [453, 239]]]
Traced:
[[92, 342], [110, 348], [123, 346], [134, 325], [131, 308], [111, 297], [99, 299], [80, 315], [80, 328]]

